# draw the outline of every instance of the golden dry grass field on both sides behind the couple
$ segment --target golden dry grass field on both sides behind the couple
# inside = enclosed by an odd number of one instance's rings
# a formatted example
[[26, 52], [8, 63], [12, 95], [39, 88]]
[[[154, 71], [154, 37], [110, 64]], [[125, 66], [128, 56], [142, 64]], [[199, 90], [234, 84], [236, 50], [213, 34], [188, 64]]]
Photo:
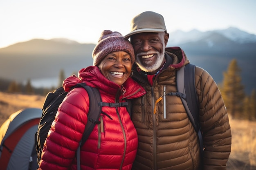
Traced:
[[[23, 108], [42, 108], [45, 97], [0, 92], [0, 126]], [[256, 122], [230, 119], [231, 155], [227, 170], [256, 170]]]

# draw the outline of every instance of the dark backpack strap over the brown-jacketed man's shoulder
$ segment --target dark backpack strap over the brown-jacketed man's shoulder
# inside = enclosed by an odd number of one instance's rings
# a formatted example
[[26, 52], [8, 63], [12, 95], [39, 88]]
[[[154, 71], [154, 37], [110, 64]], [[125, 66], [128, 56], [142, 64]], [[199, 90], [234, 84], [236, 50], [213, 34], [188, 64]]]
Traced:
[[186, 97], [181, 97], [189, 120], [198, 133], [201, 158], [203, 155], [203, 140], [199, 122], [198, 97], [195, 90], [195, 65], [186, 64], [177, 71], [177, 91]]

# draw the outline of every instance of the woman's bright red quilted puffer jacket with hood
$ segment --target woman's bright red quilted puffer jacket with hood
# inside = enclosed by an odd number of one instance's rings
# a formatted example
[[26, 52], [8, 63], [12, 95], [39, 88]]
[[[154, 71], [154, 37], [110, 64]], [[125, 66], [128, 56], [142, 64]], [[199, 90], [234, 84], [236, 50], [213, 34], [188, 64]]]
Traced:
[[[79, 78], [68, 77], [63, 82], [65, 91], [77, 83], [85, 82], [99, 88], [102, 101], [126, 102], [146, 93], [131, 78], [121, 87], [106, 79], [97, 66], [79, 71]], [[124, 93], [125, 89], [125, 93]], [[121, 93], [120, 93], [121, 94]], [[58, 108], [46, 139], [39, 169], [76, 170], [76, 149], [82, 138], [89, 110], [88, 93], [83, 88], [70, 91]], [[102, 107], [101, 124], [97, 124], [81, 147], [81, 170], [130, 170], [137, 152], [137, 132], [126, 107]]]

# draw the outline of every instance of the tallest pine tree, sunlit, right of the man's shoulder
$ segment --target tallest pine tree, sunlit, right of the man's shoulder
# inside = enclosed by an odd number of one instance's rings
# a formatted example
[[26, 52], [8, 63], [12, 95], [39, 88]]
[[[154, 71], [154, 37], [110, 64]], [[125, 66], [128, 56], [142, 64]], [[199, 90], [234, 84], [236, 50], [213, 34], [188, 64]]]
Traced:
[[245, 97], [244, 86], [241, 84], [241, 69], [236, 59], [231, 60], [227, 71], [223, 73], [222, 97], [228, 113], [233, 117], [240, 117]]

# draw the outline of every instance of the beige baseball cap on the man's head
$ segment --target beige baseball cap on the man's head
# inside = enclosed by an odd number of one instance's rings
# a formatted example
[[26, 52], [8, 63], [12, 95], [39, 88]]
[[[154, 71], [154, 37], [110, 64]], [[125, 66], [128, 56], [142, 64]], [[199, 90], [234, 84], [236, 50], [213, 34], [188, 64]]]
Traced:
[[125, 35], [124, 38], [130, 38], [131, 35], [137, 33], [167, 33], [164, 17], [153, 11], [146, 11], [136, 15], [132, 19], [130, 26], [131, 32]]

